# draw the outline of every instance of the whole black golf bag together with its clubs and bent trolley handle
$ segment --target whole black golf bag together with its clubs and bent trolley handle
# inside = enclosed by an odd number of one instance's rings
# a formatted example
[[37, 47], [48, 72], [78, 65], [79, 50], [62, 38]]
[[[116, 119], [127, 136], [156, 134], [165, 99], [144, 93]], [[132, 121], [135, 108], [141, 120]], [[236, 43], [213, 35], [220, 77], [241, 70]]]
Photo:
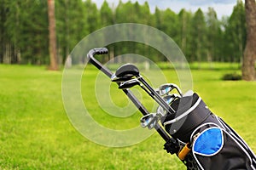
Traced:
[[[176, 154], [188, 170], [256, 169], [256, 156], [246, 142], [220, 117], [214, 115], [198, 94], [183, 94], [173, 83], [153, 89], [135, 65], [121, 65], [115, 73], [94, 58], [107, 54], [107, 48], [94, 48], [87, 54], [91, 64], [119, 85], [141, 111], [142, 127], [154, 128], [165, 139], [164, 149]], [[129, 88], [139, 85], [159, 104], [149, 113]], [[171, 94], [172, 89], [178, 94]]]

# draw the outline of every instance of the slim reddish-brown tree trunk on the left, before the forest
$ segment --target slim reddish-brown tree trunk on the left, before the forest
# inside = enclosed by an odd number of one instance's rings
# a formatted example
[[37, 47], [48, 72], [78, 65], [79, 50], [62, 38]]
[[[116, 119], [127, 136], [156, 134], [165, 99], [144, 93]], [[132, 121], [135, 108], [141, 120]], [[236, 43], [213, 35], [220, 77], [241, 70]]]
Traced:
[[58, 70], [56, 35], [55, 35], [55, 1], [48, 0], [49, 19], [49, 69]]

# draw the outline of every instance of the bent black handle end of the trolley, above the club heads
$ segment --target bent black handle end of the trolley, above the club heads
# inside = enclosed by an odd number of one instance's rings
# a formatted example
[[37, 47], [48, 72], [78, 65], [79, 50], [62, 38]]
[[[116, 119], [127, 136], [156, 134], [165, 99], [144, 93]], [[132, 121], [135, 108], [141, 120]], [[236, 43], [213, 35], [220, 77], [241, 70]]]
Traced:
[[108, 70], [108, 68], [104, 67], [101, 62], [94, 58], [96, 54], [108, 54], [108, 48], [93, 48], [90, 49], [89, 53], [87, 54], [87, 58], [89, 62], [96, 66], [97, 69], [104, 72], [108, 77], [112, 76], [112, 72]]

